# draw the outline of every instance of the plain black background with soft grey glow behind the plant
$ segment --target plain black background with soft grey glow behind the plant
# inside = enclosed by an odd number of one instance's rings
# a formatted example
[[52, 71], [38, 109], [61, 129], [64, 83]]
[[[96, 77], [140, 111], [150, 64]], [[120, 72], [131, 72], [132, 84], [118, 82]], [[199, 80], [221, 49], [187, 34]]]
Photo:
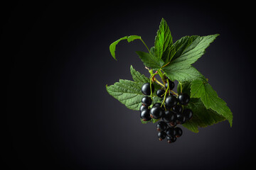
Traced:
[[[243, 169], [255, 160], [255, 33], [252, 4], [225, 1], [18, 3], [1, 5], [4, 141], [9, 169]], [[107, 94], [106, 84], [149, 75], [134, 51], [141, 35], [154, 45], [165, 18], [174, 41], [184, 35], [220, 36], [194, 66], [233, 111], [228, 121], [200, 128], [169, 145], [154, 124], [142, 125]]]

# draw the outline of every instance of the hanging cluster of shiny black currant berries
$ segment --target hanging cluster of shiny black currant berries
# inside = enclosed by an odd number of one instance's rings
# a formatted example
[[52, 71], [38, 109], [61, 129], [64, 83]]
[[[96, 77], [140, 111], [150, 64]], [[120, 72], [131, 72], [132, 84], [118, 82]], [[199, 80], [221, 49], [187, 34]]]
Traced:
[[[169, 83], [167, 82], [169, 81]], [[164, 140], [167, 138], [167, 142], [172, 143], [175, 142], [177, 137], [181, 137], [182, 130], [181, 128], [176, 127], [178, 124], [183, 124], [186, 120], [190, 120], [192, 118], [193, 112], [191, 109], [184, 108], [190, 100], [188, 94], [178, 94], [178, 96], [174, 96], [170, 91], [174, 89], [174, 82], [171, 80], [167, 80], [165, 82], [165, 89], [159, 89], [156, 91], [156, 95], [159, 98], [162, 98], [161, 103], [154, 103], [152, 105], [151, 97], [149, 96], [154, 92], [154, 85], [149, 83], [145, 83], [142, 86], [142, 93], [146, 96], [142, 98], [142, 106], [139, 108], [140, 117], [144, 121], [149, 121], [151, 118], [154, 119], [162, 119], [156, 125], [156, 129], [159, 131], [158, 137], [159, 140]], [[168, 88], [169, 84], [169, 88]], [[169, 89], [166, 93], [166, 89]], [[165, 96], [165, 99], [164, 99]]]

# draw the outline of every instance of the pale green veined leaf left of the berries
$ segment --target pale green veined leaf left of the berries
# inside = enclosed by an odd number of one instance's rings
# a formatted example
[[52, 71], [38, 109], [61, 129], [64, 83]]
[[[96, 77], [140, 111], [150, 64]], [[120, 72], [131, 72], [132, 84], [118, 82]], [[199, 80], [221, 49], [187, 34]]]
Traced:
[[[142, 82], [134, 82], [129, 80], [120, 79], [114, 85], [106, 86], [107, 92], [123, 103], [127, 108], [139, 111], [142, 105]], [[159, 101], [159, 97], [153, 97], [153, 103]]]

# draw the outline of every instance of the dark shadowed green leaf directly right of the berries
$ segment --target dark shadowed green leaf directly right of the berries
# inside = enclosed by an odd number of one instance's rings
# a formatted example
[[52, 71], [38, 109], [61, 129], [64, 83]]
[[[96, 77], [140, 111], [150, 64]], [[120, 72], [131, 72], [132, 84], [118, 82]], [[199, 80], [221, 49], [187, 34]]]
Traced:
[[192, 132], [198, 132], [198, 128], [205, 128], [225, 120], [225, 117], [222, 115], [207, 109], [200, 98], [191, 98], [191, 101], [189, 101], [188, 106], [185, 106], [185, 108], [193, 111], [193, 117], [191, 120], [186, 121], [183, 126]]

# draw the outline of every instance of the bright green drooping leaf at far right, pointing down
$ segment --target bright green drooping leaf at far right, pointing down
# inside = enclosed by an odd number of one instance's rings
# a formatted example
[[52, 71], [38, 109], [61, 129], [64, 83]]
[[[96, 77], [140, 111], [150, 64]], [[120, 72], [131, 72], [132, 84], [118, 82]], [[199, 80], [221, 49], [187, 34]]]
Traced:
[[216, 111], [228, 120], [232, 126], [233, 114], [223, 99], [218, 97], [216, 91], [205, 81], [195, 80], [191, 82], [191, 98], [201, 98], [204, 106]]

